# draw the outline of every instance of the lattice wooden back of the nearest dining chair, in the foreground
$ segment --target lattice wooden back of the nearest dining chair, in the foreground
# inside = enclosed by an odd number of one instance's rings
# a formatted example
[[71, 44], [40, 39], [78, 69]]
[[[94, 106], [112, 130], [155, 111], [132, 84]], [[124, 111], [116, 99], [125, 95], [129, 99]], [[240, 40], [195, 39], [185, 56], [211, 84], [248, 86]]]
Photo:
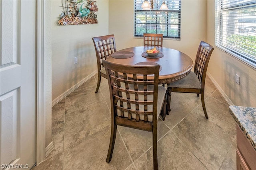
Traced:
[[160, 66], [126, 66], [103, 62], [108, 74], [112, 116], [124, 119], [126, 125], [129, 124], [127, 121], [156, 121]]

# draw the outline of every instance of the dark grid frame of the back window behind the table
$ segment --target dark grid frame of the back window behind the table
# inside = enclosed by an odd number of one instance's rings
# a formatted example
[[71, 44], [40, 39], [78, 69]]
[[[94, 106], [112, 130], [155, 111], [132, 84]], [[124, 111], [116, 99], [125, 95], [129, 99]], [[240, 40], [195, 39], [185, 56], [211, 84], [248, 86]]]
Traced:
[[[157, 20], [156, 20], [156, 23], [154, 23], [154, 24], [156, 24], [156, 25], [177, 25], [177, 27], [178, 27], [178, 36], [166, 36], [166, 35], [164, 35], [163, 37], [165, 39], [180, 40], [180, 33], [181, 33], [181, 0], [178, 0], [178, 3], [179, 3], [178, 4], [179, 5], [178, 8], [179, 8], [179, 10], [155, 10], [155, 9], [154, 10], [142, 10], [142, 8], [140, 6], [136, 6], [136, 1], [137, 0], [134, 0], [134, 37], [136, 37], [136, 38], [143, 37], [143, 35], [136, 35], [136, 25], [137, 24], [146, 24], [146, 26], [149, 24], [149, 23], [137, 23], [136, 15], [137, 15], [138, 12], [145, 12], [145, 18], [147, 18], [147, 13], [148, 12], [149, 13], [152, 13], [152, 12], [156, 13], [156, 18], [157, 18], [157, 16], [160, 16], [160, 14], [157, 15], [157, 12], [168, 12], [168, 14], [169, 13], [178, 13], [178, 24], [168, 23], [168, 20], [167, 20], [167, 23], [157, 23]], [[171, 2], [171, 1], [172, 0], [165, 0], [165, 3], [168, 4], [168, 2]], [[155, 5], [157, 7], [159, 7], [159, 8], [161, 6], [161, 5], [159, 6], [159, 4], [155, 4]], [[139, 9], [136, 9], [136, 7], [139, 8]], [[167, 14], [167, 16], [168, 16], [168, 14]], [[158, 26], [156, 26], [156, 27], [158, 27]], [[143, 33], [149, 33], [149, 32], [147, 32], [147, 28], [145, 28], [145, 29], [146, 29], [146, 31], [143, 32]], [[167, 29], [167, 33], [170, 30], [171, 30], [171, 28]], [[161, 33], [160, 29], [156, 28], [156, 33]]]

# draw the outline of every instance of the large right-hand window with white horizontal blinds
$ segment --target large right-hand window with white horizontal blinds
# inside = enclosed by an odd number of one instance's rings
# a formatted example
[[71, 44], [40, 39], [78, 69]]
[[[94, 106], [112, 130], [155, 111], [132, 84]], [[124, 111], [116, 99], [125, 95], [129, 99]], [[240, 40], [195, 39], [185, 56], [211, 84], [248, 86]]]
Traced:
[[215, 45], [256, 67], [256, 0], [215, 2]]

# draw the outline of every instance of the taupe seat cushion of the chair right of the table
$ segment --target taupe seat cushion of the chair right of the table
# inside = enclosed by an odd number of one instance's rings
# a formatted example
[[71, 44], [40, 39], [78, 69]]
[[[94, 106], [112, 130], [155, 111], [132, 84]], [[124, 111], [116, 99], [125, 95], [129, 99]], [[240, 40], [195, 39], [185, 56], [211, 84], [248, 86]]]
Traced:
[[190, 72], [184, 78], [174, 82], [170, 82], [167, 85], [169, 88], [195, 88], [195, 89], [201, 88], [201, 83], [197, 78], [196, 73], [194, 72]]

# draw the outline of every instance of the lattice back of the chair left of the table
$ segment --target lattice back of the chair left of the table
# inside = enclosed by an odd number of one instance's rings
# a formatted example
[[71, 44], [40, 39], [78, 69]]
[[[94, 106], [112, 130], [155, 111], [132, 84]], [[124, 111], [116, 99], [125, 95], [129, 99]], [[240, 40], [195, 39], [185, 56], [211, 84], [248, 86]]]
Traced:
[[98, 68], [103, 68], [102, 60], [106, 60], [108, 56], [116, 52], [116, 41], [114, 35], [105, 35], [93, 37], [94, 48], [96, 51]]

